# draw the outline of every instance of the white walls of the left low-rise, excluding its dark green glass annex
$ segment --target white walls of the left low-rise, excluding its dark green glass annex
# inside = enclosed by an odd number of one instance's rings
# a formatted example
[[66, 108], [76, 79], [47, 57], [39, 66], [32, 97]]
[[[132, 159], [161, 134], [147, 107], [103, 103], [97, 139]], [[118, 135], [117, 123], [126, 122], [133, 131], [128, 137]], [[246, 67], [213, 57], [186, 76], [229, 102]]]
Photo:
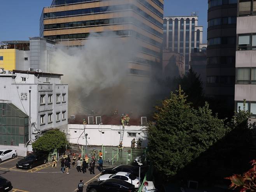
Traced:
[[[5, 103], [9, 101], [30, 116], [28, 138], [23, 143], [30, 144], [28, 151], [32, 151], [31, 142], [28, 141], [34, 141], [40, 133], [54, 128], [61, 131], [67, 129], [68, 85], [61, 84], [61, 76], [20, 70], [13, 70], [11, 74], [0, 73], [0, 104], [1, 100], [5, 100]], [[0, 117], [1, 115], [5, 118], [3, 113], [0, 113]], [[8, 122], [2, 126], [8, 128], [7, 124]], [[11, 124], [12, 119], [10, 126]], [[12, 133], [7, 131], [7, 134]]]

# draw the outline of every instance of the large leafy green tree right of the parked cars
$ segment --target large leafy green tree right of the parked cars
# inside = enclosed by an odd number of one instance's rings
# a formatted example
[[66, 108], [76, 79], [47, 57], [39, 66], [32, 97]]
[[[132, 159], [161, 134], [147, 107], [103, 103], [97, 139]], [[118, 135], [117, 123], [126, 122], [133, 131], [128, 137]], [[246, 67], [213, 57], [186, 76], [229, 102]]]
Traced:
[[148, 157], [164, 180], [205, 152], [228, 131], [224, 120], [213, 116], [208, 103], [195, 110], [181, 90], [171, 93], [161, 106], [156, 106], [155, 122], [149, 123]]

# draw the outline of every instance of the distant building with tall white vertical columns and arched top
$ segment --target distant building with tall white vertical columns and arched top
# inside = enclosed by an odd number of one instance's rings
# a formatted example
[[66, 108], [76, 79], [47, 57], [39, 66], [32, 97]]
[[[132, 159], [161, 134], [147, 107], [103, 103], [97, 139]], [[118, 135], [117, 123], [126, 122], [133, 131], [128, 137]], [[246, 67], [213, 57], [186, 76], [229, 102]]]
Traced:
[[184, 56], [185, 72], [189, 70], [191, 52], [199, 49], [203, 40], [203, 26], [198, 26], [198, 16], [164, 17], [163, 48]]

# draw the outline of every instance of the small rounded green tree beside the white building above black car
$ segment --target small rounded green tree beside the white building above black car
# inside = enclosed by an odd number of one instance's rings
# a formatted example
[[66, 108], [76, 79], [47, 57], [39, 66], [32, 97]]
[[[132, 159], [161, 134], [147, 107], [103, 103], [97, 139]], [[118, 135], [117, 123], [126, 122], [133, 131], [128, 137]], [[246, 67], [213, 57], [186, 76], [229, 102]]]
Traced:
[[51, 152], [53, 149], [61, 149], [67, 145], [65, 133], [62, 133], [58, 129], [47, 131], [40, 136], [34, 143], [32, 148], [37, 151]]

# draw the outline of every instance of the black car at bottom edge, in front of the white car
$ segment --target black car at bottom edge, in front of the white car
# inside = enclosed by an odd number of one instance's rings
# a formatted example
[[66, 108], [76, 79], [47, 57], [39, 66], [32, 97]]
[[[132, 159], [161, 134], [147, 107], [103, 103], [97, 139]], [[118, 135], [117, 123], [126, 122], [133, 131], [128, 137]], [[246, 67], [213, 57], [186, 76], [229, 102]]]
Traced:
[[86, 192], [135, 192], [135, 187], [131, 183], [120, 179], [108, 179], [105, 181], [95, 181], [87, 185]]

